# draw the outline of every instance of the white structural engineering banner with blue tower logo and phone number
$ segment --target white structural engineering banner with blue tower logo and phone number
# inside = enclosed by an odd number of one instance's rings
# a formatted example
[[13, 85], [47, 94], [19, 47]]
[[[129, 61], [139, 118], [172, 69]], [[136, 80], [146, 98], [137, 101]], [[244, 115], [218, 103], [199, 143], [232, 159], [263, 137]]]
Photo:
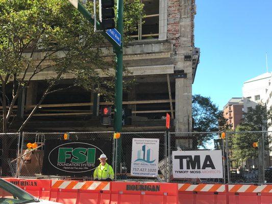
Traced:
[[158, 175], [159, 139], [133, 138], [131, 175], [153, 177]]

